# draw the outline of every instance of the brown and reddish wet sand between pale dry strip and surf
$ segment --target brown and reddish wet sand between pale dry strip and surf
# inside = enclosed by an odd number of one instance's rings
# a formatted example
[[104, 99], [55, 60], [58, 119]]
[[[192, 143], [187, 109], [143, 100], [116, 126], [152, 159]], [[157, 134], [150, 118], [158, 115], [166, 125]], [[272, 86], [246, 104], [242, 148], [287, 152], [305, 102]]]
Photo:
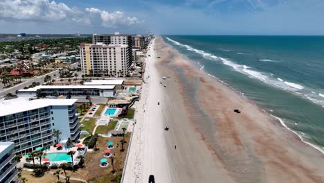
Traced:
[[171, 182], [324, 182], [323, 154], [161, 38], [155, 42], [159, 76], [167, 76], [161, 110], [170, 126]]

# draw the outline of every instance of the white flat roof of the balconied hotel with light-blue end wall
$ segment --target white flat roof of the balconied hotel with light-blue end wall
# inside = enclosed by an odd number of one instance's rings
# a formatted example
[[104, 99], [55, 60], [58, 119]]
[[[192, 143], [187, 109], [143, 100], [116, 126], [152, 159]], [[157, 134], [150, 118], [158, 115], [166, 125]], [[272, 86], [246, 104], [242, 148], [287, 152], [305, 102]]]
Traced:
[[35, 110], [50, 105], [73, 105], [78, 99], [35, 99], [19, 97], [11, 100], [0, 101], [0, 116], [15, 114], [28, 110]]

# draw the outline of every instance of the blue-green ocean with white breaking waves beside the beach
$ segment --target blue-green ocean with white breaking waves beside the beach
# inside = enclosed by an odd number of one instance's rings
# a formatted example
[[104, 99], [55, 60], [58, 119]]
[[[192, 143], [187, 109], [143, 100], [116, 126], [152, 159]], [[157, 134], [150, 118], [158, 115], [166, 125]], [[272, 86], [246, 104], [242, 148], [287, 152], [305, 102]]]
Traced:
[[324, 36], [165, 35], [163, 40], [324, 153]]

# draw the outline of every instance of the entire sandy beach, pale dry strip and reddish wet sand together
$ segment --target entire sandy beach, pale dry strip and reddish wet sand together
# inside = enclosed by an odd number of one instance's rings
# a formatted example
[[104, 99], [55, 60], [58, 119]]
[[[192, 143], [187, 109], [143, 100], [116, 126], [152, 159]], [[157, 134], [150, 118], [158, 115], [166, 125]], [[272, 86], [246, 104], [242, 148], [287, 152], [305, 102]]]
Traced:
[[144, 80], [124, 182], [324, 182], [322, 153], [161, 37]]

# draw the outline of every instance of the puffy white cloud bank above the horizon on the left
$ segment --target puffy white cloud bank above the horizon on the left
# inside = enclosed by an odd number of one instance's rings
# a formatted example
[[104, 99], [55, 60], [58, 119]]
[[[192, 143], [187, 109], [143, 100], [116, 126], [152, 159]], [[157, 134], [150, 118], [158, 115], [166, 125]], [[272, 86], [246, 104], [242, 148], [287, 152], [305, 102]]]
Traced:
[[80, 24], [118, 28], [141, 23], [136, 17], [127, 17], [124, 12], [107, 12], [98, 8], [80, 10], [48, 0], [1, 0], [0, 19], [5, 21], [69, 21]]

